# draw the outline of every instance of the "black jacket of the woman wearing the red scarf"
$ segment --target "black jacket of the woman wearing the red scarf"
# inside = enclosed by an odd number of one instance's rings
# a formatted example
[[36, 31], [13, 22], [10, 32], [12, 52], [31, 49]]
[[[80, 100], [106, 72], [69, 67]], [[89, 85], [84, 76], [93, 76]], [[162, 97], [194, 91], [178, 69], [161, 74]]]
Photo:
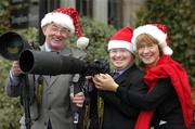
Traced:
[[118, 88], [117, 94], [131, 105], [142, 109], [155, 109], [153, 125], [155, 129], [186, 129], [181, 105], [169, 78], [159, 79], [147, 94], [138, 94], [125, 88]]

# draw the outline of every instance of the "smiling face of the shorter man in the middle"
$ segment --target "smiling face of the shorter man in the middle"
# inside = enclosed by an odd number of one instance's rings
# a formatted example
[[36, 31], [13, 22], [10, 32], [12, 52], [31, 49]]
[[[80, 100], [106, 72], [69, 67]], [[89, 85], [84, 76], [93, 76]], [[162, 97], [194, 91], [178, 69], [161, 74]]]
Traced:
[[127, 49], [110, 49], [109, 59], [115, 69], [125, 69], [134, 62], [134, 55]]

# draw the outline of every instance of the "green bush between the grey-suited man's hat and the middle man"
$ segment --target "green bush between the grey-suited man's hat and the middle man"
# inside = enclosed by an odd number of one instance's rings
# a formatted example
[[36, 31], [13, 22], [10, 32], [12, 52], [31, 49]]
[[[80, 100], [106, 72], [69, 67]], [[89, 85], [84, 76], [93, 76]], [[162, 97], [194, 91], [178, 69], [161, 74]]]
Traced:
[[[88, 17], [80, 18], [80, 23], [82, 35], [90, 39], [88, 48], [83, 50], [88, 53], [89, 60], [107, 59], [107, 42], [116, 29]], [[73, 36], [67, 42], [68, 46], [76, 48], [77, 38]]]

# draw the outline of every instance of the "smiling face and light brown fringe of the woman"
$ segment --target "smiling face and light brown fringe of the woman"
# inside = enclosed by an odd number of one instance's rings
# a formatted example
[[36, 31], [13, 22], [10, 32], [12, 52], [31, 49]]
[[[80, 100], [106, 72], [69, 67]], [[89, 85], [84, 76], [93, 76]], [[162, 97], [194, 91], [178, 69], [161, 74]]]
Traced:
[[155, 38], [142, 34], [136, 38], [136, 53], [147, 67], [154, 67], [159, 60], [161, 49]]

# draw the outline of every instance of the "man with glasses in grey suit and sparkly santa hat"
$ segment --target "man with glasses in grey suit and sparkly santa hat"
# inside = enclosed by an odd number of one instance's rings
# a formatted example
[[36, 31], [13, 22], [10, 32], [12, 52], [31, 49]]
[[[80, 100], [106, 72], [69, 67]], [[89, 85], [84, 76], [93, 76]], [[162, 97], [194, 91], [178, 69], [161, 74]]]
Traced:
[[[72, 34], [78, 36], [77, 46], [84, 49], [89, 42], [88, 38], [81, 37], [78, 13], [73, 8], [56, 9], [44, 15], [41, 21], [42, 33], [46, 37], [41, 51], [58, 52], [61, 55], [83, 59], [86, 53], [69, 49], [65, 46], [65, 40]], [[42, 59], [44, 60], [44, 59]], [[57, 67], [57, 66], [56, 66]], [[18, 62], [14, 62], [10, 70], [6, 93], [10, 96], [21, 94], [20, 75], [23, 74]], [[82, 92], [70, 96], [69, 86], [74, 75], [40, 76], [28, 75], [29, 86], [35, 88], [35, 96], [30, 104], [29, 125], [31, 129], [73, 129], [73, 103], [82, 107], [84, 95]], [[31, 92], [31, 91], [30, 91]], [[25, 116], [21, 119], [21, 129], [26, 129]]]

